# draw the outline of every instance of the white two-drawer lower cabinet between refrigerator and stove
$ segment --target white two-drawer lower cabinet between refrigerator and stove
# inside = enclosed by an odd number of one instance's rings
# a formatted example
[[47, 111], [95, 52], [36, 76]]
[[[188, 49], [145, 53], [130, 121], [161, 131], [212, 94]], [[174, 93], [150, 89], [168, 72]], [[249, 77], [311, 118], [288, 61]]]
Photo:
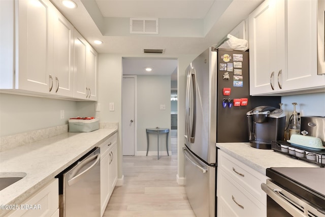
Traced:
[[261, 183], [267, 177], [218, 150], [218, 216], [267, 216], [266, 194]]

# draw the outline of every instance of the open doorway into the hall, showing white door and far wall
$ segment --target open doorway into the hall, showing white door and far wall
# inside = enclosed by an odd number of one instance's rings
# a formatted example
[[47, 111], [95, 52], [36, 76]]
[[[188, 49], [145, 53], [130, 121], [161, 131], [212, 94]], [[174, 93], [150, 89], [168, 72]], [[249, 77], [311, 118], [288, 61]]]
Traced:
[[[145, 69], [151, 67], [152, 71], [147, 72]], [[146, 156], [147, 154], [147, 137], [146, 129], [148, 128], [169, 128], [171, 130], [171, 77], [175, 73], [177, 83], [178, 59], [176, 58], [142, 58], [142, 57], [123, 57], [122, 58], [122, 153], [128, 156]], [[130, 101], [129, 94], [126, 94], [124, 82], [126, 77], [133, 76], [136, 80], [136, 102], [133, 106], [128, 106]], [[132, 89], [132, 88], [131, 88]], [[127, 95], [124, 97], [124, 94]], [[128, 108], [125, 108], [128, 107]], [[124, 115], [127, 110], [135, 112], [132, 116]], [[131, 111], [129, 111], [131, 113]], [[134, 122], [131, 122], [134, 120]], [[134, 136], [129, 136], [124, 132], [124, 127], [134, 127]], [[172, 154], [171, 138], [175, 138], [175, 146], [177, 146], [177, 132], [171, 132], [168, 138], [169, 155]], [[129, 137], [134, 138], [129, 141]], [[157, 139], [154, 135], [149, 135], [148, 156], [157, 155]], [[161, 140], [161, 141], [160, 141]], [[159, 137], [159, 155], [167, 156], [166, 146], [160, 145], [166, 143], [166, 137]], [[129, 152], [130, 144], [134, 144], [134, 152]], [[125, 150], [127, 149], [127, 151]], [[132, 149], [133, 150], [133, 149]], [[176, 149], [177, 150], [177, 149]], [[176, 154], [177, 155], [177, 151]]]

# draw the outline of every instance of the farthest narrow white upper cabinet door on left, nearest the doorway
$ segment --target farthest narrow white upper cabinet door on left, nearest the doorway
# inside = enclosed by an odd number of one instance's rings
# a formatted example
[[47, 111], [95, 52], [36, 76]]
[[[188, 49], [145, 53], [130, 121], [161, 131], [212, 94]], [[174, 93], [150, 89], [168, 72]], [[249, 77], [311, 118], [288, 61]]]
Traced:
[[88, 99], [97, 100], [97, 52], [89, 45], [86, 56], [86, 86]]

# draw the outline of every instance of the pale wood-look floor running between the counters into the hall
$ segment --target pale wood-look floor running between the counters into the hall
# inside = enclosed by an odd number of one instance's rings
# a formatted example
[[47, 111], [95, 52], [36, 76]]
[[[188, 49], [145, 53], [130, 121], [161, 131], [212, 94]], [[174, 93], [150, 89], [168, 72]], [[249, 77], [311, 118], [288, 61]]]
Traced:
[[123, 186], [115, 187], [105, 217], [195, 217], [183, 185], [177, 156], [123, 157]]

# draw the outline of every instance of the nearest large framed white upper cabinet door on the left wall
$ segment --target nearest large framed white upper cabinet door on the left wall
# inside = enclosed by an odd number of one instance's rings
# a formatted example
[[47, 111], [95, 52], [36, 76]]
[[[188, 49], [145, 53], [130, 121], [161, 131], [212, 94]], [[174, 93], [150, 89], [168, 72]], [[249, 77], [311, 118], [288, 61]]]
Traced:
[[[52, 59], [53, 7], [47, 0], [18, 2], [18, 57], [16, 58], [17, 89], [48, 93]], [[17, 11], [17, 12], [18, 12]]]

